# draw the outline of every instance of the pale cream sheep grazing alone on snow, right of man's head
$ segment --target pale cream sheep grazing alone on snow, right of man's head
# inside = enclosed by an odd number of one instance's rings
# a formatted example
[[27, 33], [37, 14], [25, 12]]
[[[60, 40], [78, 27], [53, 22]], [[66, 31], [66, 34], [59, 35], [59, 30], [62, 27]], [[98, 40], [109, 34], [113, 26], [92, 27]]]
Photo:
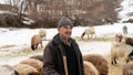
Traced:
[[89, 35], [91, 35], [91, 38], [95, 34], [95, 30], [94, 30], [94, 26], [91, 26], [89, 29], [85, 29], [84, 32], [82, 33], [81, 35], [81, 39], [83, 40], [83, 36], [84, 35], [88, 35], [88, 39], [89, 39]]

